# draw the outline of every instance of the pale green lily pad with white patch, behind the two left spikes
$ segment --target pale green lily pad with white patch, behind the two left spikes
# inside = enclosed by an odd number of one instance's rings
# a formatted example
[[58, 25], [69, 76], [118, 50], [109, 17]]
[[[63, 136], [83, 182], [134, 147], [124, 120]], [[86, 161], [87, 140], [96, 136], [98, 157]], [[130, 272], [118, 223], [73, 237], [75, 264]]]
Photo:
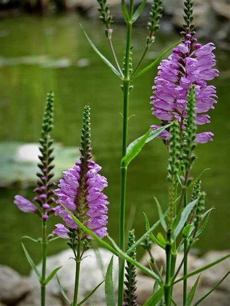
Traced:
[[[0, 186], [13, 183], [34, 185], [39, 154], [38, 143], [1, 142], [0, 143]], [[80, 158], [78, 147], [65, 147], [61, 143], [54, 145], [54, 179], [62, 176], [67, 168], [72, 168]]]

